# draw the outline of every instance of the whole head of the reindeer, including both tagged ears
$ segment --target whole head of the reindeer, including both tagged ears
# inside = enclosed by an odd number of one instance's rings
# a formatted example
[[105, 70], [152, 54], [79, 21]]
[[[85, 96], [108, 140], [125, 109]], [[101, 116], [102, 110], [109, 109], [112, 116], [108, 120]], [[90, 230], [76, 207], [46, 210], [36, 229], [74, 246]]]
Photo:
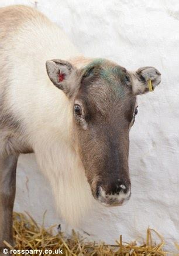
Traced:
[[149, 79], [158, 85], [160, 73], [151, 67], [128, 72], [104, 59], [81, 70], [49, 60], [47, 72], [73, 100], [75, 143], [92, 195], [105, 206], [122, 205], [130, 198], [129, 130], [136, 95], [149, 91]]

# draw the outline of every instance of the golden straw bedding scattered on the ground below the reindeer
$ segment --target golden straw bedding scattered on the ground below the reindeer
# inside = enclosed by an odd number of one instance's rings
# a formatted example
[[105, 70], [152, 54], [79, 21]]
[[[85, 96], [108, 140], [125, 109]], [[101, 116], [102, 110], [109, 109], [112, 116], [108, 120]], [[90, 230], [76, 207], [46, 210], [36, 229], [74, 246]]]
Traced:
[[[36, 221], [27, 213], [14, 213], [13, 234], [16, 246], [11, 247], [7, 242], [5, 244], [12, 249], [35, 250], [41, 248], [42, 250], [50, 249], [53, 252], [57, 248], [61, 248], [63, 255], [174, 255], [172, 252], [164, 251], [165, 242], [163, 237], [151, 228], [147, 230], [145, 242], [143, 241], [143, 244], [140, 245], [138, 245], [139, 239], [131, 243], [123, 242], [122, 236], [113, 245], [87, 242], [80, 235], [76, 234], [75, 231], [72, 231], [71, 237], [67, 238], [61, 232], [54, 234], [54, 230], [57, 230], [56, 228], [56, 226], [44, 228], [44, 224], [41, 226], [37, 225]], [[159, 238], [159, 244], [154, 242], [154, 236]], [[50, 254], [43, 252], [43, 255]]]

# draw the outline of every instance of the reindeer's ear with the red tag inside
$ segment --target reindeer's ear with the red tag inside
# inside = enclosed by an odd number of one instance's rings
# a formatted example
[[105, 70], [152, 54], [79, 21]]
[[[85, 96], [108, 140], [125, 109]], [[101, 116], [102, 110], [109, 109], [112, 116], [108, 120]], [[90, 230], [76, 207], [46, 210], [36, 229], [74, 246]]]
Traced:
[[78, 70], [65, 60], [53, 59], [46, 62], [47, 74], [53, 84], [72, 96], [77, 86]]

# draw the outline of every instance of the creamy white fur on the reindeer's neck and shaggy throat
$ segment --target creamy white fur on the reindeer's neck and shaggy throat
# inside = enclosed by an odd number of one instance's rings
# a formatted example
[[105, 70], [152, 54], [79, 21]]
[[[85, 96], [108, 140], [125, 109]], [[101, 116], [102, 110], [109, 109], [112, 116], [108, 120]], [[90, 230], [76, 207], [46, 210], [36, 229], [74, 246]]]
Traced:
[[23, 123], [26, 143], [49, 178], [62, 217], [77, 224], [94, 199], [73, 147], [71, 102], [51, 83], [46, 60], [67, 60], [79, 53], [60, 28], [40, 17], [23, 23], [6, 49], [11, 63], [8, 106]]

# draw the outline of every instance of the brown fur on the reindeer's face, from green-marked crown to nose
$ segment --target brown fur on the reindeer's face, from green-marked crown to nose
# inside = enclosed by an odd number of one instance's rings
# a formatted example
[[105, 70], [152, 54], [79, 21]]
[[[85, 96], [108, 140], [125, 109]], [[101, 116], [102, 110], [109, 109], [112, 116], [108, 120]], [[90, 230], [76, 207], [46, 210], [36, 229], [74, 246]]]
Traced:
[[89, 63], [75, 103], [82, 107], [82, 119], [75, 116], [75, 131], [92, 194], [97, 197], [99, 186], [107, 194], [117, 193], [116, 180], [129, 189], [129, 126], [136, 97], [128, 72], [106, 60]]

